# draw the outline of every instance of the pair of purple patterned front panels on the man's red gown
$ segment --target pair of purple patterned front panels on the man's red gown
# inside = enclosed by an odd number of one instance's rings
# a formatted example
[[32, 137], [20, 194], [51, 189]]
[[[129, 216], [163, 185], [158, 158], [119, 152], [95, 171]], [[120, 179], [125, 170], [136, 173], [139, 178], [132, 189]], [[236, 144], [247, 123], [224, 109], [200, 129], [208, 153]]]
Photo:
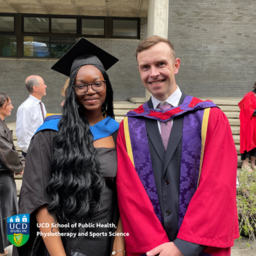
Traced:
[[[187, 113], [183, 119], [179, 228], [181, 227], [190, 200], [196, 192], [201, 158], [201, 125], [203, 113], [204, 109]], [[156, 216], [163, 223], [147, 141], [145, 119], [129, 117], [128, 124], [136, 172], [152, 202]]]

